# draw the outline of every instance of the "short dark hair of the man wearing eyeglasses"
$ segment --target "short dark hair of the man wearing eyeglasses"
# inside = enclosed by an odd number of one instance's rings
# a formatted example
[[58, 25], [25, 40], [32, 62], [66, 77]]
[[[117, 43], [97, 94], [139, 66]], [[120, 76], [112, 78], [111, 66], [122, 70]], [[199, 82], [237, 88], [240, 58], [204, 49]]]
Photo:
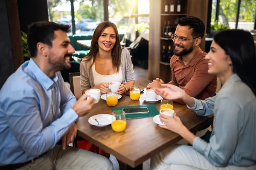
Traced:
[[192, 36], [195, 37], [204, 37], [205, 26], [202, 20], [198, 17], [182, 17], [177, 21], [177, 24], [180, 26], [188, 26], [189, 29], [193, 28]]

